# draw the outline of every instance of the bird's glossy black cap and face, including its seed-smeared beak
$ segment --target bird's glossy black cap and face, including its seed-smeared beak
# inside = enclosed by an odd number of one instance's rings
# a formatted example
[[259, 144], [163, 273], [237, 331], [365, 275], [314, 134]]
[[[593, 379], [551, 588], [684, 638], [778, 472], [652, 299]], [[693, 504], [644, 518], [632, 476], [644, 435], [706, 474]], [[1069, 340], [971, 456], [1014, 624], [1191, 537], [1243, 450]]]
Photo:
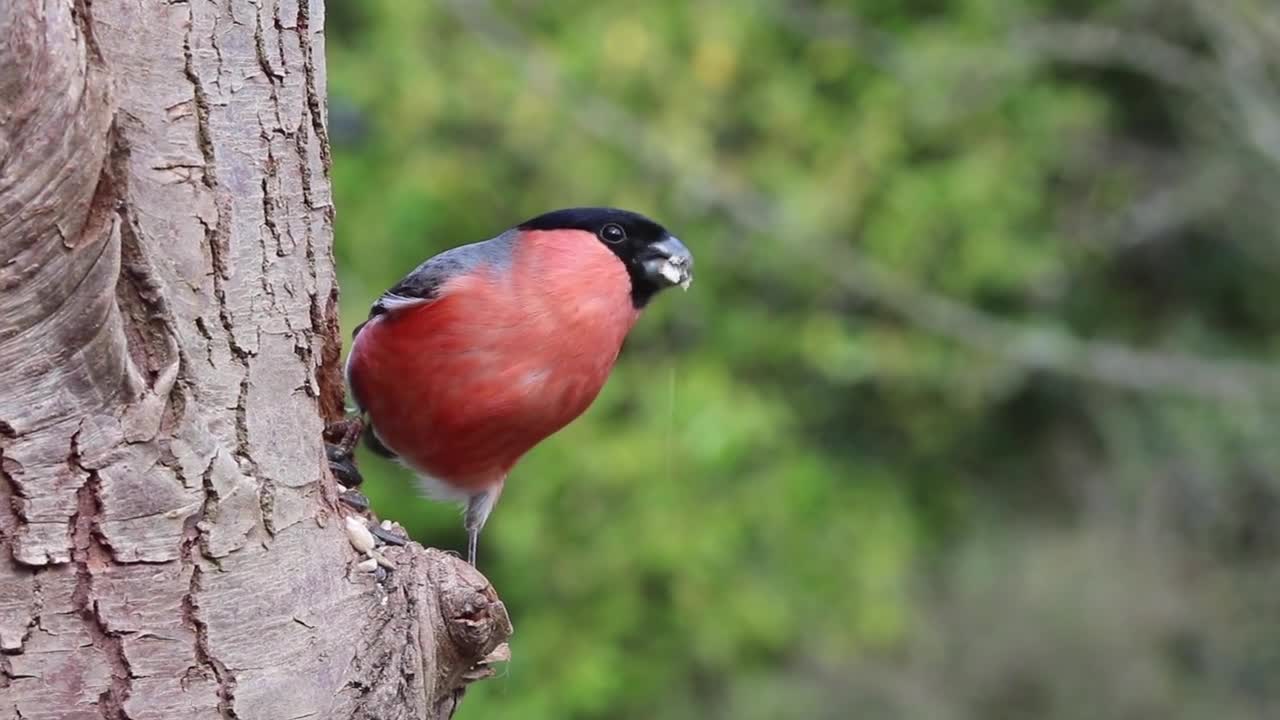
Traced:
[[694, 282], [694, 256], [667, 228], [630, 210], [568, 208], [538, 215], [521, 231], [580, 229], [594, 234], [622, 260], [631, 277], [631, 300], [644, 307], [660, 290]]

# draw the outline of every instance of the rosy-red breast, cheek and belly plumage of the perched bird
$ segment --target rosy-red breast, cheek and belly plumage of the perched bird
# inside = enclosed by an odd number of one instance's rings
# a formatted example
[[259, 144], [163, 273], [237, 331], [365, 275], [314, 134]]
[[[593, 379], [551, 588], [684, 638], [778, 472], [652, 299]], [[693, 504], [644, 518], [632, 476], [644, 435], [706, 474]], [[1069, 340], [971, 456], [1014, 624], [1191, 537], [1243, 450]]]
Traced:
[[639, 315], [630, 292], [591, 233], [521, 233], [509, 266], [370, 320], [351, 350], [352, 391], [407, 465], [460, 493], [486, 489], [595, 400]]

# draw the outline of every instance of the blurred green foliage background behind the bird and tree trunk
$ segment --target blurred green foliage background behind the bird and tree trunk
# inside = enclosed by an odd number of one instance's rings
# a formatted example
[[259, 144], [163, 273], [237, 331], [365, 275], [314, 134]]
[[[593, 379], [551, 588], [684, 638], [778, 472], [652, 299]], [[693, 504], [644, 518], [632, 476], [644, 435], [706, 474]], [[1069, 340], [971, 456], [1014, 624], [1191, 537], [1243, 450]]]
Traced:
[[698, 258], [511, 478], [460, 716], [1274, 710], [1280, 14], [1206, 8], [332, 1], [344, 328], [554, 208]]

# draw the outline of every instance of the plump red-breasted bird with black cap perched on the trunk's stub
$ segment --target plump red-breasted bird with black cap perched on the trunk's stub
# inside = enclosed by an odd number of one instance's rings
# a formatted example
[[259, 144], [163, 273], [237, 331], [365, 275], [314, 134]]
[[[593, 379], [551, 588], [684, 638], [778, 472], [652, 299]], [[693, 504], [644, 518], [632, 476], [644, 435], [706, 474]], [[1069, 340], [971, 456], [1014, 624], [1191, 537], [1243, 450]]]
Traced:
[[466, 502], [471, 564], [511, 469], [591, 405], [640, 311], [692, 268], [644, 215], [573, 208], [442, 252], [374, 302], [347, 359], [366, 441]]

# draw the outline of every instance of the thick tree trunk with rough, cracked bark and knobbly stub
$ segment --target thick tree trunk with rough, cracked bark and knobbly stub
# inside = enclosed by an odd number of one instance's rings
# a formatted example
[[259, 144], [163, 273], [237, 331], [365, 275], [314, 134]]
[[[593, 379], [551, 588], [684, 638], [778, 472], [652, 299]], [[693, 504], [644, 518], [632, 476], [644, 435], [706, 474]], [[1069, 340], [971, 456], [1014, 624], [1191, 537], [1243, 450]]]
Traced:
[[323, 8], [0, 3], [0, 719], [447, 717], [509, 633], [355, 568]]

